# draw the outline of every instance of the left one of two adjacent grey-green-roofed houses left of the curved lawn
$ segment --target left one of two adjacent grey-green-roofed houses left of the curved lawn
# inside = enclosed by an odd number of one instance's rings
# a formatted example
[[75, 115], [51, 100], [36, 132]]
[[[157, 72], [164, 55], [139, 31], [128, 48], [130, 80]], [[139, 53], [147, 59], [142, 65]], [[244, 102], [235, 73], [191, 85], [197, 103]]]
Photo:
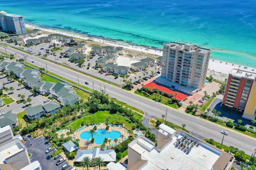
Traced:
[[37, 106], [30, 105], [26, 107], [25, 111], [26, 115], [30, 120], [35, 120], [36, 117], [42, 118], [42, 116], [45, 115], [44, 109], [41, 104]]

